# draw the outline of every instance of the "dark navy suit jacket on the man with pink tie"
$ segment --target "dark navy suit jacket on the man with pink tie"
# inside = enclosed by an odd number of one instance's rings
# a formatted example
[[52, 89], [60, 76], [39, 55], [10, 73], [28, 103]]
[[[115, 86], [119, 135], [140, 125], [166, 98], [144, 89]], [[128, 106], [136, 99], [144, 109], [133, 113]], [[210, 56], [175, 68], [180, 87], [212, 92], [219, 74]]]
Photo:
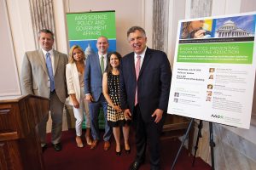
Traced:
[[171, 88], [171, 65], [164, 52], [147, 48], [143, 65], [136, 80], [134, 53], [125, 55], [120, 65], [120, 99], [121, 108], [134, 110], [137, 85], [137, 100], [145, 122], [156, 109], [166, 114]]

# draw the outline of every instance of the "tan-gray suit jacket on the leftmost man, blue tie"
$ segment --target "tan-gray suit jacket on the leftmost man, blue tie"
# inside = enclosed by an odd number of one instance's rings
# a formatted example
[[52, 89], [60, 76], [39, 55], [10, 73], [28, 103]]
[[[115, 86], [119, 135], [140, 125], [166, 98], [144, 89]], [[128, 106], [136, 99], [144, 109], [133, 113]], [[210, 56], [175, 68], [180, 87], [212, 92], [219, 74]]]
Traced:
[[[66, 65], [67, 54], [58, 51], [54, 53], [55, 92], [62, 103], [67, 98]], [[35, 94], [49, 98], [50, 83], [44, 54], [41, 49], [26, 52], [20, 75], [20, 86], [22, 94]]]

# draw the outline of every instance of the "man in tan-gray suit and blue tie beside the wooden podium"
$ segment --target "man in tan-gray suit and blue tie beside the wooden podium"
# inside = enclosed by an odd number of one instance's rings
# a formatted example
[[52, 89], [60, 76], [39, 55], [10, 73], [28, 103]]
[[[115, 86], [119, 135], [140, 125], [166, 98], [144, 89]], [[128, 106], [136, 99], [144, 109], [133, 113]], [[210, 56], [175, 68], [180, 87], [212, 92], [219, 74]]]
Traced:
[[[53, 49], [54, 34], [43, 29], [38, 32], [40, 49], [26, 52], [20, 85], [22, 94], [35, 94], [49, 98], [52, 118], [51, 143], [56, 151], [61, 151], [63, 106], [67, 98], [65, 69], [67, 54]], [[38, 125], [42, 150], [46, 150], [46, 123], [48, 116]]]

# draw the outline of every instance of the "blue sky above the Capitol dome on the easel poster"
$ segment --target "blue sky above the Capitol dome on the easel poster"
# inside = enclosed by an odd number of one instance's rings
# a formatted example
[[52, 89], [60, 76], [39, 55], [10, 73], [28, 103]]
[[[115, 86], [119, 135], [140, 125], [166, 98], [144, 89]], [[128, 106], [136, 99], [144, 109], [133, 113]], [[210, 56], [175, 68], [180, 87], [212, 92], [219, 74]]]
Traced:
[[222, 18], [216, 19], [216, 30], [220, 26], [224, 25], [224, 22], [231, 20], [235, 22], [237, 28], [241, 28], [242, 30], [248, 31], [254, 35], [255, 33], [255, 20], [256, 15], [244, 15], [244, 16], [237, 16], [237, 17], [229, 17], [229, 18]]

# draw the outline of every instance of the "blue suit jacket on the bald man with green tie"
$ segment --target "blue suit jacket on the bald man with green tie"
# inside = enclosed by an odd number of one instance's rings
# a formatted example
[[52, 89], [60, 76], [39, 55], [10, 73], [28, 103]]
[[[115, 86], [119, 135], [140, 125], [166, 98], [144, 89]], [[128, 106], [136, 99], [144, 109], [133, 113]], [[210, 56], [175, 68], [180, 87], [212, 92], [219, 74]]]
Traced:
[[[107, 55], [107, 64], [108, 57]], [[106, 68], [108, 68], [108, 65]], [[98, 54], [90, 54], [86, 59], [84, 94], [91, 94], [94, 101], [97, 101], [102, 94], [102, 71]]]

